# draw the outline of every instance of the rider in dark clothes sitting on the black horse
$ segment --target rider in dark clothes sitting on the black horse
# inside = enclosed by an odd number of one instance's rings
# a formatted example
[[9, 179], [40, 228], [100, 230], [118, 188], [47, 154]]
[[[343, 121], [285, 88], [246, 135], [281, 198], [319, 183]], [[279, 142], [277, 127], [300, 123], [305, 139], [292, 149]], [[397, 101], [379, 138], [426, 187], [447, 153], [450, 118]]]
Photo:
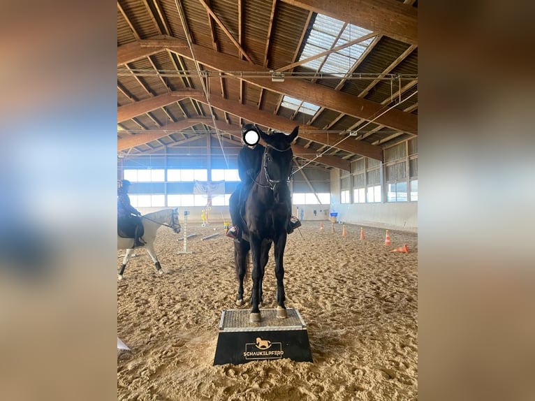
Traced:
[[[256, 135], [255, 135], [256, 134]], [[260, 135], [253, 124], [245, 124], [242, 128], [242, 141], [244, 145], [237, 154], [237, 170], [240, 175], [240, 184], [230, 196], [228, 200], [230, 219], [232, 219], [232, 226], [226, 232], [226, 236], [240, 241], [242, 238], [244, 223], [240, 210], [243, 203], [247, 201], [247, 195], [253, 186], [256, 175], [261, 170], [262, 158], [265, 147], [261, 145]], [[301, 226], [301, 222], [297, 217], [292, 216], [288, 222], [288, 234], [293, 233], [295, 228]]]

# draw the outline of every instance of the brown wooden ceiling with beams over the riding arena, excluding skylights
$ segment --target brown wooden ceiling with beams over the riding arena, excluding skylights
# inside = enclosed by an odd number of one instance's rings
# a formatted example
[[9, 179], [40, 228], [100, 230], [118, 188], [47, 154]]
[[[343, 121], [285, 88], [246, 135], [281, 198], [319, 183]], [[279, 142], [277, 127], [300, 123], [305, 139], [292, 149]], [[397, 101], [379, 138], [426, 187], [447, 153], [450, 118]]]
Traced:
[[[300, 163], [350, 170], [418, 135], [418, 3], [406, 0], [117, 1], [117, 150], [159, 152], [199, 135], [241, 146], [240, 127], [289, 133]], [[301, 60], [317, 15], [369, 31], [345, 75]], [[371, 39], [372, 38], [372, 39]], [[343, 46], [342, 46], [343, 47]], [[300, 61], [301, 60], [301, 61]], [[273, 71], [284, 82], [272, 80]], [[312, 103], [314, 115], [281, 105]], [[321, 156], [319, 156], [321, 154]]]

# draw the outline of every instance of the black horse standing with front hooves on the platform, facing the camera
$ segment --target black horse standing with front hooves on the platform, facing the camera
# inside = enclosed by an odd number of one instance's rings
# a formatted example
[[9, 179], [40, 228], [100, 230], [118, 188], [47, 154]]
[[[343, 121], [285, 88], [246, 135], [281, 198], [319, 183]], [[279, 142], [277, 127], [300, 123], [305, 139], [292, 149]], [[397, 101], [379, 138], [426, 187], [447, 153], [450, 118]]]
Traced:
[[247, 256], [251, 251], [253, 262], [253, 289], [251, 293], [251, 314], [249, 321], [261, 321], [262, 282], [269, 251], [274, 243], [275, 277], [277, 277], [277, 317], [288, 317], [284, 306], [283, 256], [288, 235], [288, 221], [291, 218], [291, 194], [288, 188], [292, 170], [293, 152], [291, 143], [298, 136], [296, 126], [290, 135], [282, 132], [258, 133], [265, 142], [261, 170], [247, 195], [242, 218], [244, 219], [242, 240], [234, 243], [236, 275], [240, 281], [237, 305], [243, 305], [243, 280], [247, 271]]

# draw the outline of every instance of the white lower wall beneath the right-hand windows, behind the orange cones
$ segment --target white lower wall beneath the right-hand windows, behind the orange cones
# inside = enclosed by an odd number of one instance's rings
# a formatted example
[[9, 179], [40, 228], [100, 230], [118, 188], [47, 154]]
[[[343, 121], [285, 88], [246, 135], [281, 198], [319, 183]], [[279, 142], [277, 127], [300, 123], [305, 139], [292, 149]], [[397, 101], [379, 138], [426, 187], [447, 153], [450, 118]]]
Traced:
[[340, 203], [340, 172], [330, 175], [330, 210], [338, 212], [338, 221], [404, 231], [418, 231], [418, 202]]

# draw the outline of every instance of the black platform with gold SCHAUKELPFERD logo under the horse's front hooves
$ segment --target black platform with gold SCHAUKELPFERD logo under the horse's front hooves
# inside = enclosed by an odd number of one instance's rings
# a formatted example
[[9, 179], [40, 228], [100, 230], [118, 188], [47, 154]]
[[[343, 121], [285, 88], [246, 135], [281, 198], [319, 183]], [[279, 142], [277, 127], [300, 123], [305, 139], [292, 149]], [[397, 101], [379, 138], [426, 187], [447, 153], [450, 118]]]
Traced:
[[260, 323], [249, 323], [249, 309], [223, 310], [214, 365], [281, 358], [314, 362], [307, 325], [298, 309], [286, 309], [287, 319], [277, 319], [277, 309], [261, 310]]

